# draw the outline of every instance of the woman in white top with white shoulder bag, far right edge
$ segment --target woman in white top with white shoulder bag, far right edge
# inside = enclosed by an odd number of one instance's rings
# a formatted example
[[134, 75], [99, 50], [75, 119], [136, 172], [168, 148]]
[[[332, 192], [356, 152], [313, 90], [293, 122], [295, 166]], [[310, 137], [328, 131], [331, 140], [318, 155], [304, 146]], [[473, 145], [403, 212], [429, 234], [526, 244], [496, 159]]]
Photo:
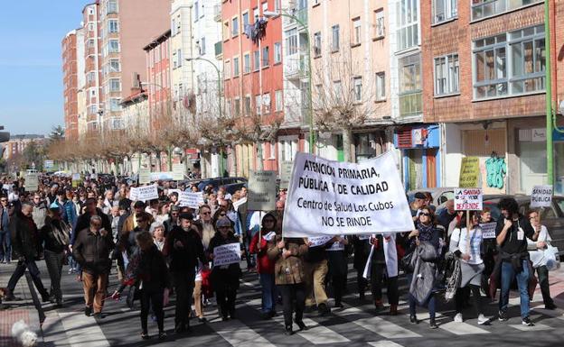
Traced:
[[556, 308], [554, 301], [550, 297], [550, 285], [549, 285], [549, 268], [547, 267], [548, 259], [545, 256], [547, 248], [550, 246], [549, 231], [546, 226], [540, 224], [539, 213], [535, 210], [530, 210], [527, 212], [529, 221], [538, 236], [537, 242], [532, 241], [527, 238], [527, 249], [531, 255], [532, 268], [537, 272], [539, 277], [540, 293], [542, 293], [542, 301], [544, 302], [544, 308], [553, 310]]

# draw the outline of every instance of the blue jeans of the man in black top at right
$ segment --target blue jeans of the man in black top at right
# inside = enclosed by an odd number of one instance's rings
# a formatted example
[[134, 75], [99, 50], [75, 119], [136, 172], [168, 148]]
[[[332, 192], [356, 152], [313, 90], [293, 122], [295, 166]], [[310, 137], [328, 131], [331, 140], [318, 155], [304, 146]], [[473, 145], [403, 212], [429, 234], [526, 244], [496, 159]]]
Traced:
[[513, 278], [517, 278], [517, 287], [521, 297], [521, 317], [529, 316], [529, 264], [528, 260], [522, 260], [522, 271], [515, 273], [512, 263], [503, 261], [502, 263], [502, 293], [500, 295], [499, 309], [505, 312], [509, 304], [509, 289]]

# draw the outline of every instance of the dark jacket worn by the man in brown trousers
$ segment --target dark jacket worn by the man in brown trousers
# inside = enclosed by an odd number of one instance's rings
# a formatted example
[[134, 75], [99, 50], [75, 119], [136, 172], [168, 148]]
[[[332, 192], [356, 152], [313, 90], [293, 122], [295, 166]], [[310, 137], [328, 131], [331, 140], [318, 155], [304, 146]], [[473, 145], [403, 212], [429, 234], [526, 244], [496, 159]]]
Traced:
[[82, 270], [91, 275], [109, 273], [111, 260], [109, 253], [114, 249], [111, 232], [102, 236], [85, 229], [80, 231], [72, 248], [72, 255], [79, 262]]

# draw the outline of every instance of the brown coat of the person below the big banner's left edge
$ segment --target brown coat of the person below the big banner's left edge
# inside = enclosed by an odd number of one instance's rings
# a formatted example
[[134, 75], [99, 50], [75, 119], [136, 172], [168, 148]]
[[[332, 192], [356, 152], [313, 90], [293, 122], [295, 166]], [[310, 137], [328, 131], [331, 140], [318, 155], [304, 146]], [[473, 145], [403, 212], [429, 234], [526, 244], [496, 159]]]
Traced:
[[276, 241], [268, 245], [268, 258], [276, 261], [274, 264], [274, 276], [277, 285], [297, 284], [305, 281], [304, 256], [307, 253], [307, 244], [303, 239], [285, 238], [285, 250], [291, 251], [292, 255], [284, 259], [282, 250], [278, 250], [277, 243], [282, 236], [277, 235]]

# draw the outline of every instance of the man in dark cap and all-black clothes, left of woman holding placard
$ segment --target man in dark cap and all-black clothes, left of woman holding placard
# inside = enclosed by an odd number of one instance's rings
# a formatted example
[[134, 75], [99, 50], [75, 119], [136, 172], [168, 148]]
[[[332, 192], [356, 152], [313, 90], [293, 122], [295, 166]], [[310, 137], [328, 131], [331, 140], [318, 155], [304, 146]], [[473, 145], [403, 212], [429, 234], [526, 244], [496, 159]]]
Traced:
[[207, 268], [207, 260], [203, 254], [202, 239], [192, 228], [193, 216], [183, 213], [179, 218], [180, 225], [174, 226], [166, 237], [163, 253], [171, 260], [170, 270], [176, 292], [175, 331], [183, 333], [190, 331], [189, 314], [198, 260], [202, 261], [204, 268]]

